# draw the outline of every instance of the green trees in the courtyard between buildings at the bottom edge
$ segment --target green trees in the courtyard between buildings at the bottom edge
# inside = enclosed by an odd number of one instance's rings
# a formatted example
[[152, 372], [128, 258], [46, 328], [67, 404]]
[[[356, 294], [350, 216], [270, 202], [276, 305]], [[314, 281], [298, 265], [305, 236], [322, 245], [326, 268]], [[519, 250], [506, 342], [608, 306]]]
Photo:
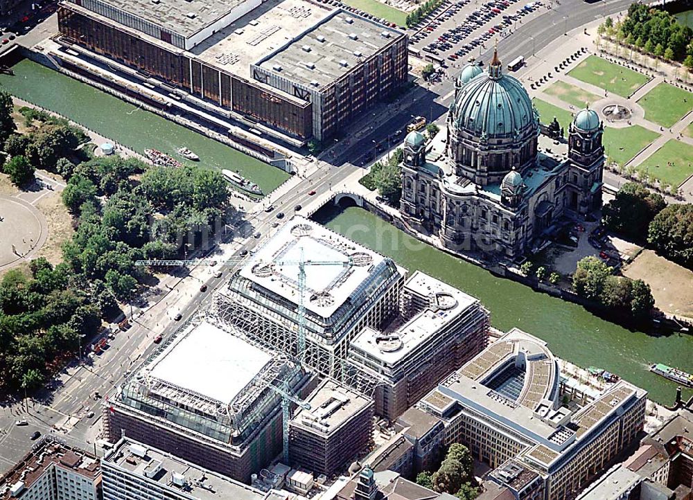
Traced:
[[436, 472], [420, 472], [416, 476], [416, 484], [438, 493], [455, 495], [460, 500], [474, 500], [479, 494], [472, 454], [459, 443], [450, 445], [445, 460]]

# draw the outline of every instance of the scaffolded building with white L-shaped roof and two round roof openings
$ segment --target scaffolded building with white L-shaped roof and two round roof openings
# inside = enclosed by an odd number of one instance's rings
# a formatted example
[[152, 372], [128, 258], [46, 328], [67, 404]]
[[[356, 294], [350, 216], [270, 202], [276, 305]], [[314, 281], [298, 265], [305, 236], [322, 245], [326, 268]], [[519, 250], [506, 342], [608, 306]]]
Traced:
[[390, 420], [481, 352], [489, 333], [480, 301], [421, 271], [403, 285], [399, 313], [382, 330], [364, 328], [349, 350], [356, 366], [385, 379], [376, 411]]

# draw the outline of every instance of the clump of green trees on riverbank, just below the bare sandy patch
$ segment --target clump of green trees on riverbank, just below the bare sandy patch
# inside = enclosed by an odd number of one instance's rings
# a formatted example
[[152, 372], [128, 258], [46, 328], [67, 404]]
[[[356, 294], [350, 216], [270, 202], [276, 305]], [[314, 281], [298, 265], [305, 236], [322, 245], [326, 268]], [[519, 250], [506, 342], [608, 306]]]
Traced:
[[643, 280], [615, 276], [613, 267], [595, 256], [577, 263], [572, 287], [579, 296], [596, 301], [615, 312], [630, 315], [636, 321], [649, 317], [654, 307], [651, 289]]

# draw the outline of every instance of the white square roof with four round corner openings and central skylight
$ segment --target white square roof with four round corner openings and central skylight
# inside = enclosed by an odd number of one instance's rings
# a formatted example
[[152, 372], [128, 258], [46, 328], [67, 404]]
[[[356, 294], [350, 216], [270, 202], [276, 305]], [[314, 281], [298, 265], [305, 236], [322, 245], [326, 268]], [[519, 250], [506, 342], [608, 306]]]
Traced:
[[306, 309], [329, 317], [376, 276], [385, 258], [311, 220], [292, 217], [262, 244], [240, 275], [298, 304], [301, 261], [306, 262]]

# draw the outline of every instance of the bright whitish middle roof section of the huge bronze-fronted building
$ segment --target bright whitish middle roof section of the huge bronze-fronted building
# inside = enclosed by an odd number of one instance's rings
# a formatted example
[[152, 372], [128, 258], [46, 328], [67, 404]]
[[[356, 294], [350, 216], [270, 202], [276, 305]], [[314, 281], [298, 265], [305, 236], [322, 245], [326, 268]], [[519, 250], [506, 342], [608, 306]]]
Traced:
[[223, 71], [252, 78], [250, 66], [325, 19], [330, 9], [308, 0], [267, 0], [191, 49]]

